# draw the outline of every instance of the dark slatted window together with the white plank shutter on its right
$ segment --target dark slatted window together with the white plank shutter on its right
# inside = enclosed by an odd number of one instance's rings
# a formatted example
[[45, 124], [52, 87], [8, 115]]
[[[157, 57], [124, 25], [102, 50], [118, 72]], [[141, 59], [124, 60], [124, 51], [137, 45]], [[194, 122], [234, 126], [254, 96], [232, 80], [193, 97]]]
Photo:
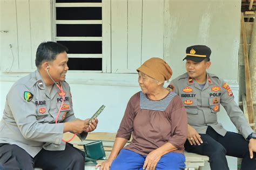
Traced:
[[136, 73], [163, 58], [163, 11], [164, 1], [56, 0], [55, 41], [69, 48], [70, 70]]

